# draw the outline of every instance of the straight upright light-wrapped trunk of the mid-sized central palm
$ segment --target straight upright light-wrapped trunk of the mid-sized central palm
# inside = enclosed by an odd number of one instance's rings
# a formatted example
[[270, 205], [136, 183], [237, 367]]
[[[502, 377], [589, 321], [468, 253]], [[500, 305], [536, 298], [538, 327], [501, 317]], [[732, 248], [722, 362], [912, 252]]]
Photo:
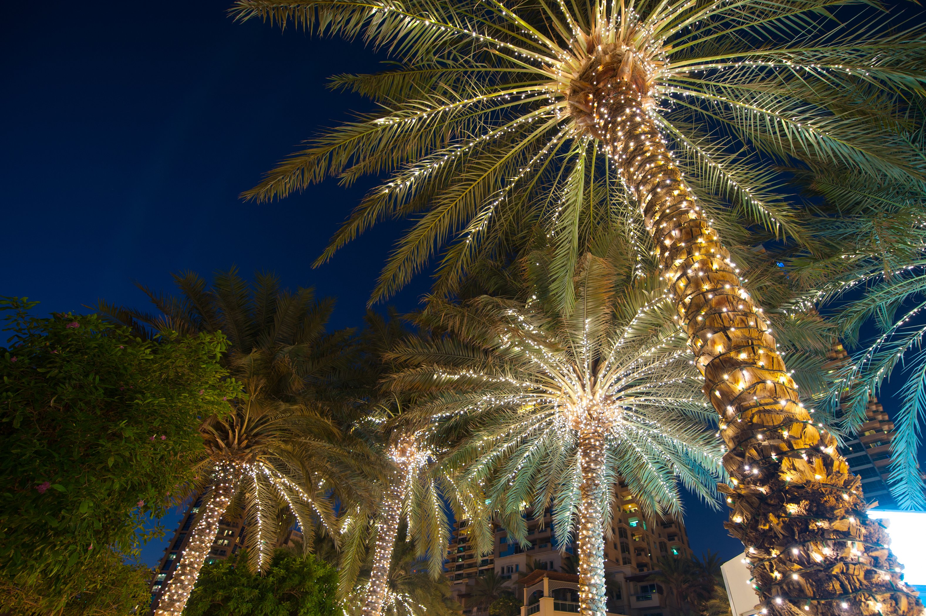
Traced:
[[[591, 422], [589, 422], [591, 423]], [[579, 610], [582, 616], [605, 615], [605, 430], [585, 425], [579, 432]]]

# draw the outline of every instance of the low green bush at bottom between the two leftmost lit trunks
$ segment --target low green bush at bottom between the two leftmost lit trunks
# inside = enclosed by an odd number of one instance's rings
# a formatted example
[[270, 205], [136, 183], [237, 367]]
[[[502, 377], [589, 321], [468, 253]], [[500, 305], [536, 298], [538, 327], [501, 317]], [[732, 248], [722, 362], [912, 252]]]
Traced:
[[247, 556], [206, 565], [185, 616], [338, 616], [337, 572], [311, 554], [278, 549], [263, 574], [250, 573]]

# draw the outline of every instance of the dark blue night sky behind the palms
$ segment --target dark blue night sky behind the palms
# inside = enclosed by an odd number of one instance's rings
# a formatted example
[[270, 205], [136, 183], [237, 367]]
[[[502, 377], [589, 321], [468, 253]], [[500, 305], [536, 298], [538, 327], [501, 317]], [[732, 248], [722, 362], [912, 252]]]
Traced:
[[[5, 6], [0, 295], [41, 301], [44, 312], [98, 299], [146, 307], [135, 280], [170, 290], [171, 272], [237, 265], [335, 296], [332, 326], [360, 325], [399, 227], [310, 264], [366, 186], [329, 181], [261, 205], [237, 195], [319, 127], [366, 109], [324, 86], [381, 58], [359, 43], [234, 23], [229, 5]], [[394, 305], [414, 308], [427, 285], [419, 277]], [[725, 512], [694, 499], [687, 508], [695, 553], [729, 559], [742, 550], [721, 525]], [[144, 560], [153, 564], [164, 545], [149, 544]]]

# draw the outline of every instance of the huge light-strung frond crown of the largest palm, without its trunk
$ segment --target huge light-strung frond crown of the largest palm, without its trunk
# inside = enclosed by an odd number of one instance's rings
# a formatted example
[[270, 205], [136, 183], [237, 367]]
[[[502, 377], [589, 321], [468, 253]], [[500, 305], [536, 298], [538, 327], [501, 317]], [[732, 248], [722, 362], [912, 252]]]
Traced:
[[239, 0], [238, 18], [363, 37], [402, 65], [335, 78], [379, 109], [311, 141], [246, 195], [387, 173], [320, 257], [377, 221], [418, 216], [374, 298], [407, 283], [442, 246], [438, 289], [454, 290], [477, 251], [507, 250], [513, 221], [525, 218], [549, 222], [569, 272], [582, 225], [612, 216], [589, 206], [595, 193], [626, 199], [595, 131], [608, 113], [601, 86], [619, 74], [721, 236], [742, 238], [746, 222], [800, 238], [776, 194], [773, 160], [921, 177], [890, 114], [901, 92], [921, 91], [923, 31], [888, 31], [885, 18], [858, 6], [843, 21], [845, 4]]

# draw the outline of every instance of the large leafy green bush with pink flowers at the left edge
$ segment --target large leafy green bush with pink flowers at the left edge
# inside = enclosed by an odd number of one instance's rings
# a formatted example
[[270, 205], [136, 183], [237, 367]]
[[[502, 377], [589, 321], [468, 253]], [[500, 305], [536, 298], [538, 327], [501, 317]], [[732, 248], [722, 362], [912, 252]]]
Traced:
[[228, 413], [238, 386], [219, 366], [221, 334], [142, 340], [34, 305], [0, 301], [0, 580], [60, 607], [96, 583], [110, 548], [138, 547], [145, 514], [192, 478], [202, 418]]

